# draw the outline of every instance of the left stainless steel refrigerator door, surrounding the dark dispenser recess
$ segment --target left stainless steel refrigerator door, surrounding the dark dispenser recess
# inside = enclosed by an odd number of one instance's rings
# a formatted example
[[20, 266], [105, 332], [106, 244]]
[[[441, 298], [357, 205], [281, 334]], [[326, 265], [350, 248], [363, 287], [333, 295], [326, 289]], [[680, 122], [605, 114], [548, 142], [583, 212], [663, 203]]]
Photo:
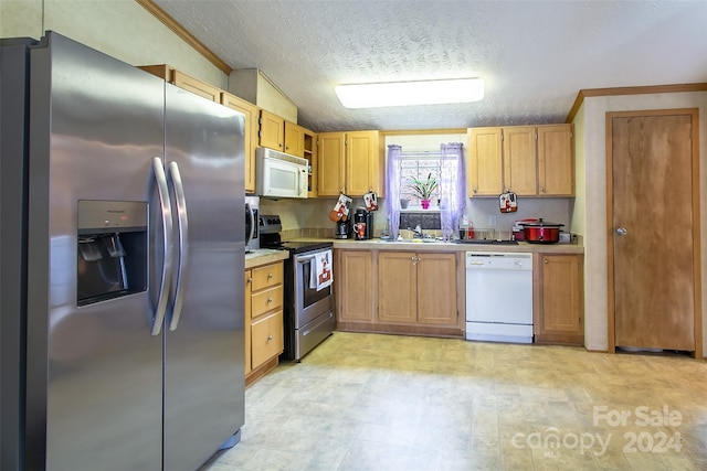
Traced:
[[[160, 469], [156, 283], [77, 307], [76, 257], [80, 200], [159, 206], [151, 159], [163, 154], [163, 82], [48, 38], [31, 53], [27, 469]], [[125, 250], [151, 258], [157, 235]]]

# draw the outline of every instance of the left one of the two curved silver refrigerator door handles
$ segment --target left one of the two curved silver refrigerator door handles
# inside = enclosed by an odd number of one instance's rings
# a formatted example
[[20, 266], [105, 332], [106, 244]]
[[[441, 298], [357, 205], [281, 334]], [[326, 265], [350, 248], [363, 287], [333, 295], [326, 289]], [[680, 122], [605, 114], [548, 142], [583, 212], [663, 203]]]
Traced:
[[162, 213], [162, 233], [165, 246], [162, 276], [151, 330], [152, 335], [159, 335], [162, 329], [162, 324], [165, 323], [165, 313], [167, 312], [167, 302], [169, 298], [169, 282], [172, 271], [172, 205], [169, 200], [167, 176], [165, 175], [165, 168], [162, 167], [161, 158], [152, 158], [152, 170], [155, 172], [155, 181], [157, 182], [157, 194], [159, 196], [160, 211]]

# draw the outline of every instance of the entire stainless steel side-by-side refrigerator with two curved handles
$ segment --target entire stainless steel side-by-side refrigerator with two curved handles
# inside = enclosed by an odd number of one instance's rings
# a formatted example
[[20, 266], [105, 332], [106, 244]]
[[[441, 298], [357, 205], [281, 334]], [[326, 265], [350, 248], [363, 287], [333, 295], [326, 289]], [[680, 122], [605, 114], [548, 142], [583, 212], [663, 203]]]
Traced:
[[193, 471], [244, 422], [244, 118], [53, 32], [0, 53], [0, 468]]

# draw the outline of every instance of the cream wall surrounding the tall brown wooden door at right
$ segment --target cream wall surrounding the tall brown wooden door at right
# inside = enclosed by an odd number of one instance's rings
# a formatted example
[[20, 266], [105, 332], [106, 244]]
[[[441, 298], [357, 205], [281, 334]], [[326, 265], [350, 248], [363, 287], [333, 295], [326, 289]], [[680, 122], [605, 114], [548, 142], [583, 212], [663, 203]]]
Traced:
[[[648, 109], [699, 109], [701, 298], [707, 300], [707, 92], [602, 96], [584, 98], [576, 119], [578, 175], [585, 189], [578, 191], [573, 227], [584, 236], [584, 344], [608, 350], [606, 286], [606, 113]], [[579, 189], [578, 189], [579, 190]], [[580, 204], [581, 200], [581, 204]], [[576, 221], [576, 222], [574, 222]], [[704, 304], [704, 302], [703, 302]], [[703, 306], [703, 352], [707, 354], [707, 308]]]

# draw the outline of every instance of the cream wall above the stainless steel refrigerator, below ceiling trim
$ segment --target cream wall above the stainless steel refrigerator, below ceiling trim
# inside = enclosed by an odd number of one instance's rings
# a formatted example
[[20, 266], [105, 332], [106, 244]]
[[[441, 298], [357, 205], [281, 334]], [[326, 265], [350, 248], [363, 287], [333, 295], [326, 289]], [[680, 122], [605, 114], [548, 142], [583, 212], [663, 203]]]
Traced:
[[133, 65], [169, 64], [219, 88], [228, 76], [133, 0], [0, 0], [0, 38], [52, 30]]

